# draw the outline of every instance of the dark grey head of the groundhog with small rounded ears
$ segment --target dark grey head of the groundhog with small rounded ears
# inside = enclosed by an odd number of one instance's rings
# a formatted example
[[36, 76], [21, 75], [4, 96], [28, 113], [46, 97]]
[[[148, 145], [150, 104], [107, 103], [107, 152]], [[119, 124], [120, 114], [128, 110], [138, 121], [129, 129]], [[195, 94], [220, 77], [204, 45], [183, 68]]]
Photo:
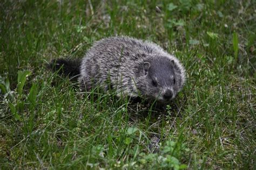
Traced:
[[183, 68], [166, 56], [158, 56], [143, 62], [138, 89], [142, 95], [167, 103], [176, 97], [184, 84]]

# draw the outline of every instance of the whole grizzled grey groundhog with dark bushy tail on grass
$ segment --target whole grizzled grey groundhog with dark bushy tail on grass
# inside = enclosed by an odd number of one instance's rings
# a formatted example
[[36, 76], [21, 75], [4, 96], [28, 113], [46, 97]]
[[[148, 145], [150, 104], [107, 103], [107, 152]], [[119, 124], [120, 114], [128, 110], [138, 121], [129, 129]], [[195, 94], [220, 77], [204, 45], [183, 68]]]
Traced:
[[83, 59], [55, 59], [54, 70], [78, 76], [80, 89], [116, 90], [118, 97], [142, 97], [168, 103], [185, 83], [180, 61], [153, 42], [130, 37], [96, 41]]

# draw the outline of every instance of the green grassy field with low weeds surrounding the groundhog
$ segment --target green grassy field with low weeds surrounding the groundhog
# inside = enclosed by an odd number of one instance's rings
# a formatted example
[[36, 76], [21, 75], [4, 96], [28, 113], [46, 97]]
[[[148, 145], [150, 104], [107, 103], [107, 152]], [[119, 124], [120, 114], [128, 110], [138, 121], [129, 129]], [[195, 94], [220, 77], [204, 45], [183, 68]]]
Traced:
[[[1, 1], [0, 169], [255, 169], [256, 2], [206, 2]], [[117, 35], [184, 64], [166, 110], [82, 95], [45, 67]]]

